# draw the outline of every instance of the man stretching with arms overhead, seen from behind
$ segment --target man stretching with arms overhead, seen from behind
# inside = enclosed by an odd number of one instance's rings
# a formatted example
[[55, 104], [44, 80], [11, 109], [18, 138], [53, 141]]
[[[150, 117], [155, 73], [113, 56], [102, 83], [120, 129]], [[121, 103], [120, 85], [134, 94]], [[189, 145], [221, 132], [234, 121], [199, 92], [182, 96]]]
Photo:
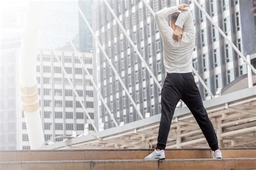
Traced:
[[[166, 22], [168, 16], [171, 26]], [[165, 159], [164, 149], [174, 110], [180, 99], [190, 109], [203, 131], [214, 153], [213, 158], [222, 158], [217, 136], [192, 74], [192, 52], [196, 31], [191, 10], [187, 4], [181, 4], [156, 12], [155, 18], [164, 43], [164, 66], [167, 75], [161, 90], [161, 118], [157, 146], [145, 159]]]

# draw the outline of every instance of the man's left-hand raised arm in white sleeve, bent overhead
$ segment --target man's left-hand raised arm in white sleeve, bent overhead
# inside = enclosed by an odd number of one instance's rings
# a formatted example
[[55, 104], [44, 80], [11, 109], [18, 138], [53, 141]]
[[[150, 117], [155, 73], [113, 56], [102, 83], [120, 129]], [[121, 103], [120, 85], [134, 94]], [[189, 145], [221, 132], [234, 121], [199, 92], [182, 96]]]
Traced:
[[173, 33], [168, 22], [166, 21], [166, 17], [177, 11], [178, 7], [172, 6], [170, 8], [161, 9], [160, 11], [156, 12], [156, 15], [154, 16], [157, 22], [160, 35], [164, 41], [172, 37]]

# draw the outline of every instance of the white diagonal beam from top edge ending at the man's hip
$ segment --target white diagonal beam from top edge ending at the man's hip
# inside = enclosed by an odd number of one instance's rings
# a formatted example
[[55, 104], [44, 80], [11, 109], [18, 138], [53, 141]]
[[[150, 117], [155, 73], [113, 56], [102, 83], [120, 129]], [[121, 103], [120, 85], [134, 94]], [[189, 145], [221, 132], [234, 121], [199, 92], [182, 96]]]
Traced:
[[132, 39], [130, 38], [130, 36], [128, 35], [128, 33], [126, 32], [126, 30], [124, 29], [124, 26], [122, 25], [122, 23], [120, 23], [118, 17], [116, 16], [116, 14], [114, 13], [114, 11], [112, 10], [111, 6], [109, 5], [109, 3], [106, 0], [103, 0], [104, 3], [106, 4], [107, 8], [109, 9], [110, 13], [112, 14], [112, 16], [114, 17], [114, 19], [116, 19], [117, 24], [119, 25], [120, 29], [123, 31], [125, 37], [129, 40], [130, 44], [132, 45], [134, 51], [136, 51], [136, 55], [138, 55], [139, 59], [142, 60], [142, 63], [145, 65], [146, 70], [149, 72], [150, 76], [153, 78], [154, 83], [157, 84], [158, 88], [161, 90], [161, 85], [159, 84], [156, 76], [154, 76], [153, 72], [150, 70], [150, 67], [147, 65], [147, 63], [145, 62], [144, 58], [142, 57], [142, 55], [140, 54], [139, 50], [137, 49], [137, 46], [132, 42]]

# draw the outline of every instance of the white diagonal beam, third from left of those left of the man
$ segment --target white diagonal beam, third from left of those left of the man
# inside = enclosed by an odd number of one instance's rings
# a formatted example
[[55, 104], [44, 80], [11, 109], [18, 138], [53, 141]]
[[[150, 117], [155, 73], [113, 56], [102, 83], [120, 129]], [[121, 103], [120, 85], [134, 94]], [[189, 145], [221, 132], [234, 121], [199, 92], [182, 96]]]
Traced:
[[117, 77], [119, 83], [120, 83], [121, 86], [123, 87], [125, 93], [127, 94], [128, 98], [130, 99], [130, 101], [131, 101], [133, 107], [134, 107], [135, 110], [137, 111], [139, 117], [140, 117], [141, 119], [144, 119], [142, 113], [139, 111], [138, 106], [136, 105], [136, 103], [135, 103], [134, 100], [132, 99], [131, 94], [129, 93], [129, 91], [127, 90], [125, 84], [123, 83], [123, 80], [120, 78], [120, 76], [119, 76], [117, 70], [114, 68], [114, 66], [113, 66], [113, 64], [112, 64], [112, 62], [111, 62], [111, 60], [109, 59], [109, 56], [107, 56], [107, 54], [106, 54], [106, 52], [105, 52], [105, 50], [104, 50], [102, 44], [100, 43], [99, 39], [98, 39], [97, 36], [95, 35], [95, 32], [92, 30], [91, 25], [88, 23], [86, 17], [84, 16], [84, 13], [82, 12], [82, 10], [80, 9], [80, 7], [77, 5], [77, 3], [76, 3], [75, 1], [74, 1], [74, 3], [75, 3], [75, 5], [77, 6], [77, 9], [78, 9], [78, 11], [79, 11], [79, 13], [80, 13], [80, 15], [81, 15], [83, 21], [85, 22], [87, 28], [90, 30], [90, 32], [91, 32], [93, 38], [95, 38], [96, 42], [98, 43], [99, 48], [100, 48], [100, 50], [101, 50], [102, 53], [103, 53], [103, 56], [104, 56], [105, 59], [107, 60], [107, 63], [109, 63], [109, 65], [110, 65], [112, 71], [113, 71], [114, 74], [116, 75], [116, 77]]

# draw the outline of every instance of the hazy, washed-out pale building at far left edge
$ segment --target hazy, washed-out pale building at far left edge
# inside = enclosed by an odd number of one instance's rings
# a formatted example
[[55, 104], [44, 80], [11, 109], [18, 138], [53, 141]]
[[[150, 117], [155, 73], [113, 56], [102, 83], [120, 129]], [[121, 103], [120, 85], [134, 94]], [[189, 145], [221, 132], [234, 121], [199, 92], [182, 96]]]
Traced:
[[0, 150], [14, 150], [18, 145], [18, 54], [23, 12], [22, 3], [0, 6]]

